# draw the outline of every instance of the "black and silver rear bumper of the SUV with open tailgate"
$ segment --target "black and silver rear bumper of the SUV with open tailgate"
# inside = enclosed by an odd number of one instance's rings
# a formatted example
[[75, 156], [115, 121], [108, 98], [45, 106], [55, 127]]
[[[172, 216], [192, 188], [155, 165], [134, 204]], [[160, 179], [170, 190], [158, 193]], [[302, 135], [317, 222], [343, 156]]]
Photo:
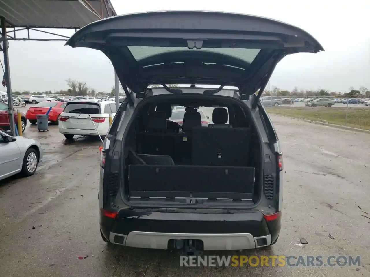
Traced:
[[101, 215], [100, 229], [115, 244], [168, 249], [172, 239], [203, 242], [203, 250], [241, 250], [270, 245], [281, 218], [266, 222], [261, 212], [161, 213], [121, 210], [115, 219]]

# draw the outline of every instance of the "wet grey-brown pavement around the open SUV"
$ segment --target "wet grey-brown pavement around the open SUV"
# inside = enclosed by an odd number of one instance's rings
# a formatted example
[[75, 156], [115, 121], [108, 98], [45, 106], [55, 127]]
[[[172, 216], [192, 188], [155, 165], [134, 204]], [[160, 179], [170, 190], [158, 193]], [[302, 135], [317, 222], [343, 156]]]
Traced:
[[370, 276], [370, 135], [271, 117], [285, 167], [279, 240], [206, 254], [360, 255], [360, 266], [184, 268], [175, 252], [108, 246], [98, 226], [101, 142], [67, 141], [50, 125], [25, 132], [45, 148], [37, 173], [0, 184], [0, 276]]

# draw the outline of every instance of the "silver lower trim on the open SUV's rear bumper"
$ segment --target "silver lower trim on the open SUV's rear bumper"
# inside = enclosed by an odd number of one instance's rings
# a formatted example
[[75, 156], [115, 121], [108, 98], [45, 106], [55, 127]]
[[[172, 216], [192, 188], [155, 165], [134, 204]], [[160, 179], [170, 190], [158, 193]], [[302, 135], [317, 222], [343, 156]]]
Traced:
[[[118, 236], [119, 238], [117, 239]], [[116, 238], [116, 239], [115, 239]], [[253, 237], [249, 233], [238, 234], [182, 234], [156, 232], [130, 232], [127, 236], [110, 233], [111, 243], [129, 247], [167, 249], [170, 239], [202, 240], [203, 250], [242, 250], [255, 249], [271, 244], [271, 235]], [[116, 242], [115, 242], [116, 241]], [[117, 243], [117, 242], [120, 243]], [[262, 242], [262, 243], [261, 243]]]

